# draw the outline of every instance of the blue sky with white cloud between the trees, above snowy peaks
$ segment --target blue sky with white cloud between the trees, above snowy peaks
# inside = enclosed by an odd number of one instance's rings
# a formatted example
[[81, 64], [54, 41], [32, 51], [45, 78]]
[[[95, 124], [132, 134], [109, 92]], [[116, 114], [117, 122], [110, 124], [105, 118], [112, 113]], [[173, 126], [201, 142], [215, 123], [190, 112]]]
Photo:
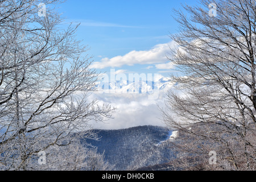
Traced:
[[167, 46], [174, 46], [168, 35], [178, 30], [172, 9], [181, 3], [196, 1], [67, 0], [59, 11], [68, 22], [81, 23], [77, 38], [90, 47], [98, 71], [168, 76], [174, 71], [165, 57]]

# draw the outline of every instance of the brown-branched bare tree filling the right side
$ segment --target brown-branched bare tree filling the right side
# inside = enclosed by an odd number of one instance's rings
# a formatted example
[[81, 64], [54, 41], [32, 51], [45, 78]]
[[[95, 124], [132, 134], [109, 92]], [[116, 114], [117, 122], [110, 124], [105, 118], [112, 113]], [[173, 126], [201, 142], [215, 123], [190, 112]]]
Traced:
[[[193, 167], [253, 170], [255, 1], [200, 2], [201, 7], [183, 6], [188, 15], [175, 10], [180, 33], [171, 38], [179, 48], [170, 60], [181, 74], [172, 76], [176, 90], [167, 94], [163, 118], [179, 130], [183, 140], [177, 139], [176, 146], [187, 162], [193, 157]], [[212, 166], [210, 151], [217, 154], [217, 164]]]

